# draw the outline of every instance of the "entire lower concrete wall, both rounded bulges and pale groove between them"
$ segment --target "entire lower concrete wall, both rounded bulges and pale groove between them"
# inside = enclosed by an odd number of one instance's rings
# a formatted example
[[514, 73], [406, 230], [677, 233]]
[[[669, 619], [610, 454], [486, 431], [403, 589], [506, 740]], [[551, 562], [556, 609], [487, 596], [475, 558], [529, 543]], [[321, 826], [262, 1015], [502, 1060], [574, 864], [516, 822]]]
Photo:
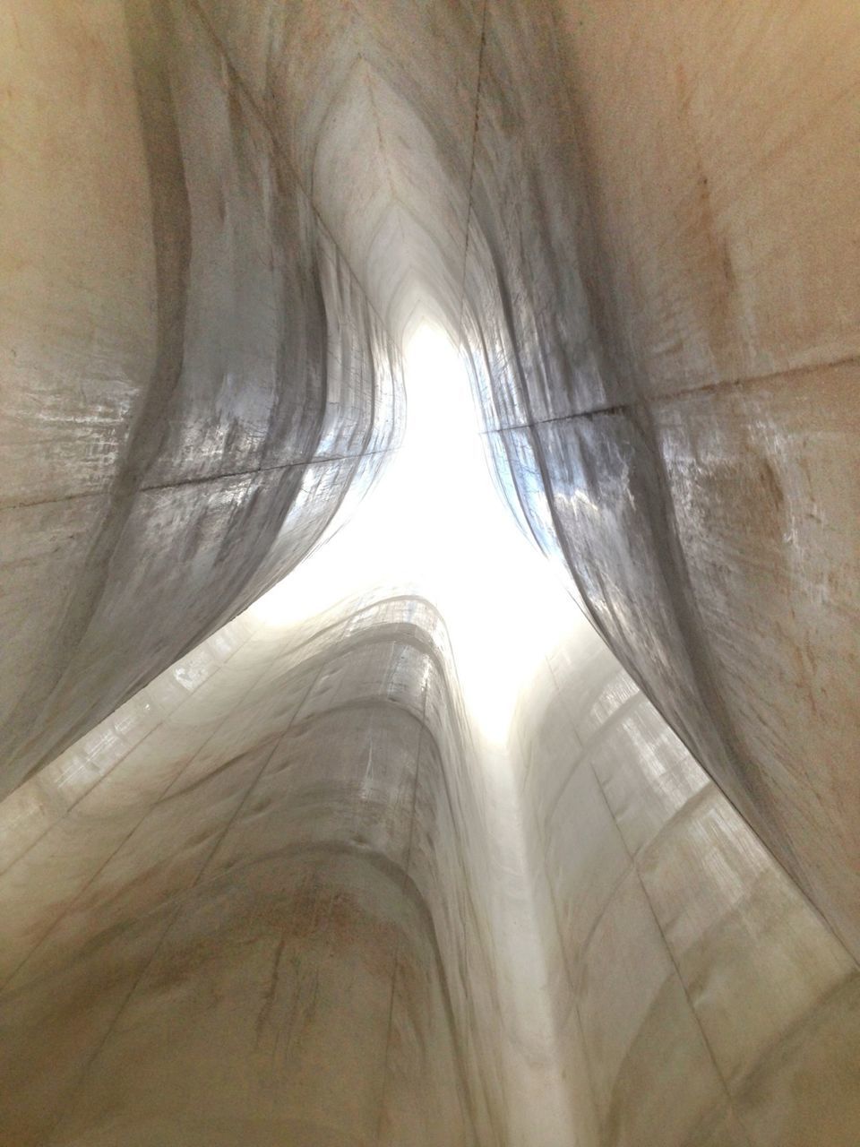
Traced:
[[0, 804], [2, 1141], [853, 1147], [854, 960], [571, 603], [243, 615]]

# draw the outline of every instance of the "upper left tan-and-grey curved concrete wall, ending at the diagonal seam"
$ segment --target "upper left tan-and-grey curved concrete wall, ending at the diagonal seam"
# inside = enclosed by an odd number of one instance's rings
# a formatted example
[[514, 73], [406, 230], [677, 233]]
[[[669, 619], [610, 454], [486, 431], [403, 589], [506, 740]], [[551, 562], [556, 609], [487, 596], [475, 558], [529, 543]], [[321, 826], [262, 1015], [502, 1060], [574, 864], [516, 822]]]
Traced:
[[399, 353], [201, 21], [2, 16], [2, 791], [282, 577]]

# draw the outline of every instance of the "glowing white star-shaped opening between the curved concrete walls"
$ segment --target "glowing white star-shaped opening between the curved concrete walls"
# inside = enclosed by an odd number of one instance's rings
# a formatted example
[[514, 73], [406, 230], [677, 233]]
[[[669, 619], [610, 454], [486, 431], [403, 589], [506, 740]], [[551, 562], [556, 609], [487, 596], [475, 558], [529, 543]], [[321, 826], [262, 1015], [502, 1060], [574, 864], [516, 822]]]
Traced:
[[451, 341], [420, 328], [404, 368], [402, 446], [350, 521], [253, 609], [290, 623], [366, 588], [415, 590], [445, 618], [472, 717], [502, 744], [570, 599], [497, 492]]

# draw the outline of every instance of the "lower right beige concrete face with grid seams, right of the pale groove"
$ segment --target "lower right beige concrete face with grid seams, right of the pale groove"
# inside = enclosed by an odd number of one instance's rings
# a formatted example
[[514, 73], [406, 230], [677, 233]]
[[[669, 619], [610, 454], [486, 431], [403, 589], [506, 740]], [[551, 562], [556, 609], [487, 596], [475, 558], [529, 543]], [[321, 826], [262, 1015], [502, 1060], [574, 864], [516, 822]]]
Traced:
[[584, 618], [514, 728], [577, 1142], [852, 1147], [855, 961]]

